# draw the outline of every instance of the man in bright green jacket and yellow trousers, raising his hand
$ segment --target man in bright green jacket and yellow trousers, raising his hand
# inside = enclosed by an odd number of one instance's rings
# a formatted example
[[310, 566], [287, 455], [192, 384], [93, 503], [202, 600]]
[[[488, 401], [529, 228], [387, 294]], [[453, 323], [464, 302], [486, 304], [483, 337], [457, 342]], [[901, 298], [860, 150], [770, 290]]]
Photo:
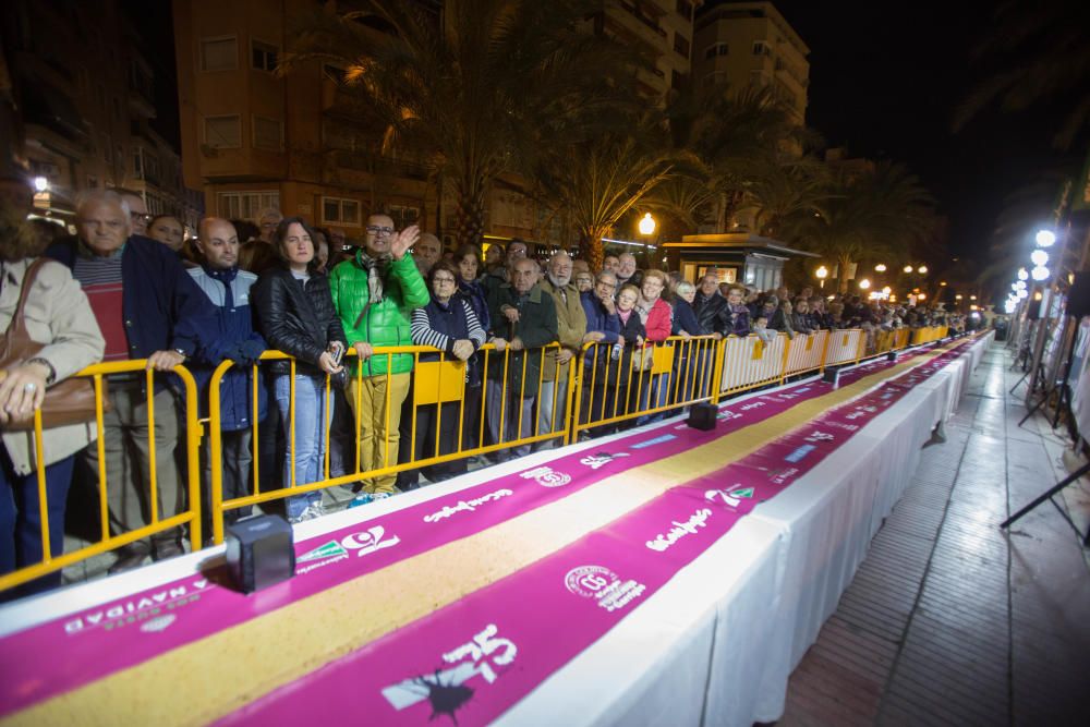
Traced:
[[[409, 392], [411, 353], [379, 354], [374, 347], [412, 346], [411, 316], [428, 302], [427, 286], [409, 249], [420, 239], [415, 225], [397, 232], [387, 215], [367, 218], [366, 238], [355, 257], [329, 274], [329, 290], [356, 362], [349, 362], [348, 401], [360, 422], [360, 470], [398, 462], [401, 404]], [[362, 378], [356, 375], [362, 367]], [[363, 480], [367, 496], [397, 492], [396, 474]]]

